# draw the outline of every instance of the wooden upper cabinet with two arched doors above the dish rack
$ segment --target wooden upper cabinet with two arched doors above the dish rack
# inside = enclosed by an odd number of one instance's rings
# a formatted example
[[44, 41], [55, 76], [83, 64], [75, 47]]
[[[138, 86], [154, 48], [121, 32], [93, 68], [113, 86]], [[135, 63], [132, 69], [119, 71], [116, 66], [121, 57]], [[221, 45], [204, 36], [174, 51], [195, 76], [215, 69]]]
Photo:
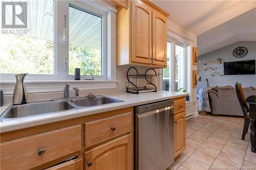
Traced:
[[150, 1], [129, 1], [117, 13], [117, 65], [166, 66], [167, 14]]

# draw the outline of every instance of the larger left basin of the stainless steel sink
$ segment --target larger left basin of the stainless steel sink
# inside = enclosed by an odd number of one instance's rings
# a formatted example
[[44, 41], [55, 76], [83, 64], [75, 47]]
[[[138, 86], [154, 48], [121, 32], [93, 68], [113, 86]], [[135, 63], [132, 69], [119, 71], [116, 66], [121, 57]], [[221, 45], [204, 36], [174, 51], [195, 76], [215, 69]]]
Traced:
[[46, 113], [53, 113], [74, 109], [75, 106], [68, 101], [53, 101], [30, 103], [25, 105], [11, 105], [1, 115], [1, 120], [9, 118], [20, 118], [27, 116], [35, 116]]

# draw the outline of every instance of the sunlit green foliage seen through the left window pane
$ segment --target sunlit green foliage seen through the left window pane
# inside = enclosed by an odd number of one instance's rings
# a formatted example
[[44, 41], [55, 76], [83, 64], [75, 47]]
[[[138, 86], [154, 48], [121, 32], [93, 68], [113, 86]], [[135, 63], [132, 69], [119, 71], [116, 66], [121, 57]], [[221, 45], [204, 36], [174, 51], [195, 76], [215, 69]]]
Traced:
[[5, 34], [0, 39], [1, 74], [54, 74], [52, 41]]

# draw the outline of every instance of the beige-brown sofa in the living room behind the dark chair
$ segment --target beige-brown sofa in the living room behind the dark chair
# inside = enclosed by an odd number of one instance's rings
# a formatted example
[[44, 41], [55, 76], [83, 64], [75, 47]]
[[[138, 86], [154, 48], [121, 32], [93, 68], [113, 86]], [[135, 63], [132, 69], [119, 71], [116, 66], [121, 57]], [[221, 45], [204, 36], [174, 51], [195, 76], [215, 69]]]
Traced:
[[[256, 95], [256, 87], [246, 87], [243, 89], [246, 98], [250, 95]], [[217, 86], [208, 90], [208, 96], [212, 115], [243, 116], [235, 87]]]

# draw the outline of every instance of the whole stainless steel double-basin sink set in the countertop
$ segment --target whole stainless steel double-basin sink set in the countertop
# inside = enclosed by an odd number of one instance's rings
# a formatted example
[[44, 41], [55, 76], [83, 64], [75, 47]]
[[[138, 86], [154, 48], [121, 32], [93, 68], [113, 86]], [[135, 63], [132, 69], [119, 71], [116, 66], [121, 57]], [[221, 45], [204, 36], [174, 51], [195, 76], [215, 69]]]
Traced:
[[122, 101], [108, 98], [106, 96], [96, 95], [95, 98], [61, 98], [54, 101], [11, 105], [3, 112], [3, 114], [1, 114], [0, 121], [2, 122], [16, 118], [57, 113], [118, 102]]

